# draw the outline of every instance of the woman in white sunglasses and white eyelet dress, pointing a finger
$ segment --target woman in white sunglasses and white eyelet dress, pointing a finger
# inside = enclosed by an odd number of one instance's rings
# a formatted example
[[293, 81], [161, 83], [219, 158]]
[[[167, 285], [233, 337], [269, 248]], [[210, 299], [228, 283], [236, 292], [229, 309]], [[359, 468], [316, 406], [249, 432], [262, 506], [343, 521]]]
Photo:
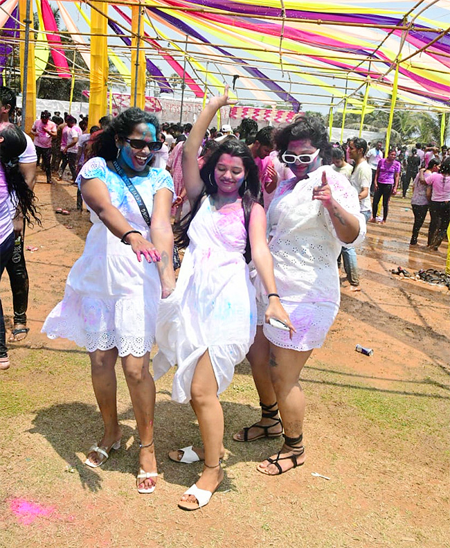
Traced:
[[[249, 351], [262, 418], [233, 438], [254, 441], [281, 436], [278, 454], [258, 470], [279, 475], [305, 461], [303, 418], [305, 396], [298, 383], [313, 348], [322, 346], [339, 310], [337, 257], [341, 246], [355, 245], [366, 233], [357, 191], [330, 163], [331, 145], [325, 127], [309, 116], [276, 134], [280, 160], [294, 177], [279, 184], [267, 212], [267, 235], [273, 255], [278, 295], [257, 286], [258, 330]], [[265, 324], [264, 303], [280, 299], [296, 333]]]

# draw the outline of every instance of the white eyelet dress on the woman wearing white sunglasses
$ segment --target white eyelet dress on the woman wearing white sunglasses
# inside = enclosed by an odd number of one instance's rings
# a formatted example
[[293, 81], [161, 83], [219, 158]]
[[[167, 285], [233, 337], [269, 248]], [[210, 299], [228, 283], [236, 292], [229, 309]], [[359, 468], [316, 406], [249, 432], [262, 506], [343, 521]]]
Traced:
[[[359, 220], [359, 234], [351, 244], [339, 240], [330, 213], [312, 200], [314, 186], [321, 185], [323, 170], [334, 200]], [[347, 177], [323, 166], [295, 184], [279, 184], [267, 211], [267, 236], [282, 306], [297, 330], [289, 333], [264, 324], [267, 296], [256, 277], [258, 325], [276, 346], [296, 351], [320, 348], [339, 310], [341, 294], [337, 258], [341, 247], [353, 247], [366, 235], [366, 220], [359, 212], [357, 191]]]

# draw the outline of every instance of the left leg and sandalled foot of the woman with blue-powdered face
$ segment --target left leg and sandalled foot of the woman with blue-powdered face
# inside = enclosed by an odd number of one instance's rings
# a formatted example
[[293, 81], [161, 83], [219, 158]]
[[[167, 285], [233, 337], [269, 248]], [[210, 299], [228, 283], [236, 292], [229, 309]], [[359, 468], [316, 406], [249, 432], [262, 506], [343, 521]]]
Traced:
[[[96, 350], [89, 353], [91, 358], [91, 377], [93, 391], [96, 394], [98, 407], [102, 414], [103, 424], [105, 425], [105, 433], [98, 444], [99, 447], [105, 448], [107, 453], [116, 441], [122, 436], [122, 430], [117, 419], [117, 402], [116, 402], [116, 360], [117, 348], [103, 351]], [[105, 460], [102, 454], [90, 452], [87, 458], [94, 464], [98, 464]]]

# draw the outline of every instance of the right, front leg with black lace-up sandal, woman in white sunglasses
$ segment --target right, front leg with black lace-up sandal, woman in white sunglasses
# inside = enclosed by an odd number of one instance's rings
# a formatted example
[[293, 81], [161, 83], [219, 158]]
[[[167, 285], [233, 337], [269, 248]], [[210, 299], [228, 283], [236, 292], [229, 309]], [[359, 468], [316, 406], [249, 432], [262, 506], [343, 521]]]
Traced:
[[[305, 394], [298, 382], [300, 372], [307, 362], [312, 351], [297, 352], [288, 348], [280, 348], [273, 344], [270, 345], [270, 367], [273, 387], [275, 389], [280, 415], [285, 427], [285, 435], [289, 438], [298, 438], [303, 434], [303, 419], [305, 417]], [[293, 451], [292, 446], [284, 443], [281, 448], [280, 457], [298, 454], [299, 451]], [[276, 458], [276, 455], [271, 457]], [[297, 463], [301, 464], [305, 461], [305, 454], [298, 454]], [[285, 472], [293, 467], [290, 459], [280, 461], [282, 471]], [[259, 468], [266, 469], [270, 475], [279, 474], [278, 468], [263, 461]]]

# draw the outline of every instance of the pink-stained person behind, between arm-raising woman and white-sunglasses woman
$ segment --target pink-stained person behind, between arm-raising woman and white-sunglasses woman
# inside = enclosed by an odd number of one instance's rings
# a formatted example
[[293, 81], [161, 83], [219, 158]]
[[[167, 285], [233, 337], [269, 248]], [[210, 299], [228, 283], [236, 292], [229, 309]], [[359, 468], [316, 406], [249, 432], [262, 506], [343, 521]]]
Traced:
[[260, 175], [260, 184], [262, 197], [264, 200], [264, 210], [269, 209], [273, 191], [278, 184], [278, 174], [273, 167], [270, 153], [273, 150], [273, 127], [268, 125], [263, 127], [255, 135], [255, 141], [249, 145], [251, 155], [255, 161], [258, 173]]

